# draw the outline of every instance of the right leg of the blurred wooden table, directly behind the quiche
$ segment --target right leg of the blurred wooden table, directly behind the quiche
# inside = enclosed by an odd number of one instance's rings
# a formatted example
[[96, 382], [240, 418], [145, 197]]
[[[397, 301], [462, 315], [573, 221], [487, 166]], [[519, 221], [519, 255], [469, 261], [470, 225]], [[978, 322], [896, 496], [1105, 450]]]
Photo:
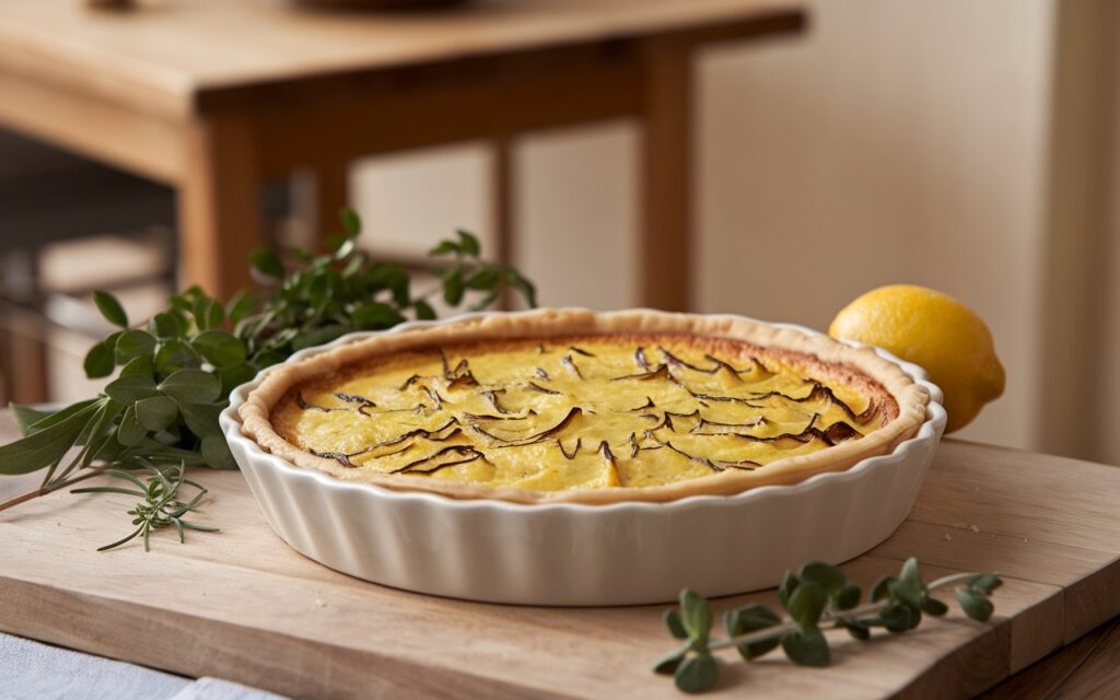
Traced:
[[691, 301], [691, 50], [681, 40], [655, 38], [648, 40], [643, 58], [638, 302], [687, 311]]

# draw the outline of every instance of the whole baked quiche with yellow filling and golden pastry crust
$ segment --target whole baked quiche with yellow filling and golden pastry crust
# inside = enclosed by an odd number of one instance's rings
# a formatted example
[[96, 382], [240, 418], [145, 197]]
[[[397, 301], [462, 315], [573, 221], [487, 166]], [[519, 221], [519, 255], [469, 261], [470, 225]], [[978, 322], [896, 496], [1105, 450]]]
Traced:
[[930, 400], [869, 348], [736, 317], [560, 309], [377, 334], [270, 371], [243, 432], [346, 482], [672, 501], [887, 454]]

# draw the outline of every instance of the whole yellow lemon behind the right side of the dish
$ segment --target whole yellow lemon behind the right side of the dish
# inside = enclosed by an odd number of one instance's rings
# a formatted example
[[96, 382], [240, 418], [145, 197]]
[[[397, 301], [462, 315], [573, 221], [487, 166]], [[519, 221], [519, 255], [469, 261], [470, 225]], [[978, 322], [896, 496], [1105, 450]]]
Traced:
[[949, 295], [913, 284], [879, 287], [837, 314], [833, 338], [877, 345], [922, 366], [945, 393], [946, 432], [969, 424], [1004, 393], [991, 330]]

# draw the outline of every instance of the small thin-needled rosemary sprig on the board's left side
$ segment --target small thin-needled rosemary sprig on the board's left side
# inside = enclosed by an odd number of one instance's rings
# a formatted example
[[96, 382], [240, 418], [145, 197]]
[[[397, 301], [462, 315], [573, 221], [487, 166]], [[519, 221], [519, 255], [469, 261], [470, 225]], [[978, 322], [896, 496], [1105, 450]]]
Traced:
[[[187, 522], [183, 517], [190, 511], [194, 511], [202, 503], [203, 498], [206, 497], [207, 493], [202, 484], [186, 478], [186, 467], [184, 465], [172, 467], [167, 472], [158, 469], [155, 466], [149, 466], [146, 470], [151, 474], [147, 483], [141, 482], [128, 472], [121, 472], [120, 469], [104, 470], [105, 476], [124, 479], [132, 484], [134, 488], [123, 486], [87, 486], [71, 491], [72, 494], [125, 494], [143, 498], [143, 502], [137, 503], [136, 507], [128, 512], [129, 515], [133, 516], [132, 524], [137, 525], [137, 529], [115, 542], [99, 547], [99, 552], [115, 549], [136, 538], [143, 540], [143, 549], [147, 552], [150, 550], [149, 538], [152, 530], [161, 530], [172, 525], [179, 533], [180, 543], [187, 541], [187, 530], [220, 532], [217, 528], [197, 525]], [[195, 489], [195, 495], [190, 501], [183, 501], [179, 497], [179, 492], [184, 485]]]

